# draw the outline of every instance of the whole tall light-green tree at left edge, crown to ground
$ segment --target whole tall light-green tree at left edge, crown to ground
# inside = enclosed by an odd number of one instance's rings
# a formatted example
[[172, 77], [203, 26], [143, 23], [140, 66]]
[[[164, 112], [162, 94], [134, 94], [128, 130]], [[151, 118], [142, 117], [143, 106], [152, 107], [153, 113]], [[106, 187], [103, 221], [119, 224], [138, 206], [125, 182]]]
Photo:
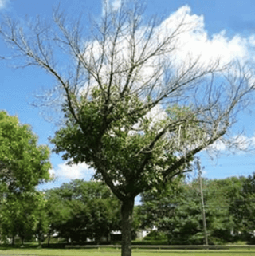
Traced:
[[49, 148], [38, 146], [29, 125], [6, 112], [0, 112], [0, 144], [1, 232], [13, 243], [16, 234], [24, 242], [35, 224], [36, 186], [50, 179]]

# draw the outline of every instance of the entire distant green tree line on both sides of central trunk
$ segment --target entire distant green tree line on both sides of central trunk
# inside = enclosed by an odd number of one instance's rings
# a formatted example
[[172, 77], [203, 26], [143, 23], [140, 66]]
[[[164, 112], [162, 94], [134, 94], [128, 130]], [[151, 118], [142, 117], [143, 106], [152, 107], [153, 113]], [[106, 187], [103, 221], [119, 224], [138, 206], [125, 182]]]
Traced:
[[[210, 244], [252, 242], [255, 230], [255, 175], [203, 179], [207, 235]], [[151, 230], [146, 240], [169, 244], [203, 244], [200, 188], [197, 179], [175, 179], [161, 191], [143, 193], [135, 207], [132, 233]], [[75, 179], [44, 192], [10, 195], [0, 205], [2, 242], [37, 238], [50, 243], [114, 242], [120, 226], [120, 202], [102, 182]], [[152, 231], [153, 230], [153, 231]], [[164, 241], [163, 241], [164, 240]]]

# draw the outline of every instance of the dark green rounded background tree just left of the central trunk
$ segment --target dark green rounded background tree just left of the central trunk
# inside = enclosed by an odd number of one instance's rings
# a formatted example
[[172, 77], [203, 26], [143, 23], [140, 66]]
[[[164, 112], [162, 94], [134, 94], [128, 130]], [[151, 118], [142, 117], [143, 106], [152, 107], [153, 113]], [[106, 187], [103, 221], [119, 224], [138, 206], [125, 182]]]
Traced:
[[47, 191], [46, 198], [51, 230], [67, 241], [90, 238], [100, 242], [112, 230], [120, 230], [120, 204], [104, 183], [75, 179]]

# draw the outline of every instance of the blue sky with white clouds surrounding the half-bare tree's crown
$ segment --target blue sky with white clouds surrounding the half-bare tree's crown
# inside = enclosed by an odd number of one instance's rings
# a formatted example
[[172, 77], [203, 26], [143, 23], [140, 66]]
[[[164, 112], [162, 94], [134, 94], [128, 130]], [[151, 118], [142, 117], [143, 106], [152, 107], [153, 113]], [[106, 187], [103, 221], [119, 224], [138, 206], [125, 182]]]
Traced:
[[[110, 0], [108, 0], [110, 1]], [[0, 16], [10, 16], [23, 24], [26, 17], [50, 20], [53, 8], [58, 4], [70, 17], [77, 17], [80, 12], [85, 16], [92, 15], [100, 18], [103, 13], [101, 0], [0, 0]], [[116, 8], [120, 2], [112, 2]], [[220, 56], [225, 61], [233, 57], [246, 60], [255, 58], [255, 2], [253, 0], [147, 0], [145, 15], [157, 14], [163, 21], [169, 17], [186, 12], [189, 18], [198, 24], [198, 37], [183, 37], [188, 41], [193, 53], [201, 51], [205, 57]], [[26, 16], [27, 15], [27, 16]], [[175, 15], [175, 16], [173, 16]], [[84, 26], [88, 27], [88, 24]], [[182, 51], [185, 53], [185, 50]], [[0, 40], [0, 56], [10, 55], [10, 49]], [[33, 108], [34, 96], [43, 89], [50, 89], [54, 81], [43, 70], [28, 67], [15, 69], [8, 61], [0, 61], [0, 110], [6, 110], [10, 115], [17, 115], [22, 124], [30, 124], [39, 138], [39, 144], [49, 144], [49, 137], [54, 136], [57, 130], [55, 124], [44, 119], [41, 108]], [[240, 116], [238, 128], [245, 128], [245, 139], [253, 144], [255, 121], [254, 114]], [[234, 135], [234, 132], [233, 132]], [[53, 145], [49, 144], [50, 148]], [[235, 152], [232, 154], [224, 145], [218, 144], [220, 154], [213, 160], [205, 153], [200, 154], [203, 175], [208, 179], [223, 179], [229, 176], [251, 175], [255, 171], [253, 152]], [[89, 180], [93, 170], [88, 169], [85, 163], [69, 167], [61, 156], [51, 155], [54, 182], [40, 185], [38, 189], [59, 187], [61, 183], [71, 179]], [[195, 174], [190, 174], [192, 178]]]

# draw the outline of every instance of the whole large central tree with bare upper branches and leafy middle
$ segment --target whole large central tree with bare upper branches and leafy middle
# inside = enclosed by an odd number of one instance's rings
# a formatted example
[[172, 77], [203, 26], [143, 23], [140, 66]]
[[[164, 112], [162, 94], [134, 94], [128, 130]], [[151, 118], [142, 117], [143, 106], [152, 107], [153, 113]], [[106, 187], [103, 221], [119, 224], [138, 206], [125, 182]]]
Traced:
[[[121, 2], [117, 10], [105, 2], [91, 37], [60, 10], [54, 26], [37, 19], [23, 30], [7, 18], [0, 30], [14, 58], [56, 79], [47, 99], [58, 100], [64, 122], [51, 140], [54, 150], [70, 164], [95, 168], [95, 178], [120, 199], [123, 256], [131, 255], [135, 196], [187, 171], [195, 154], [227, 139], [253, 93], [252, 72], [241, 62], [178, 58], [180, 36], [194, 32], [186, 14], [168, 26], [146, 21], [143, 11], [139, 2]], [[59, 51], [65, 61], [57, 61]]]

